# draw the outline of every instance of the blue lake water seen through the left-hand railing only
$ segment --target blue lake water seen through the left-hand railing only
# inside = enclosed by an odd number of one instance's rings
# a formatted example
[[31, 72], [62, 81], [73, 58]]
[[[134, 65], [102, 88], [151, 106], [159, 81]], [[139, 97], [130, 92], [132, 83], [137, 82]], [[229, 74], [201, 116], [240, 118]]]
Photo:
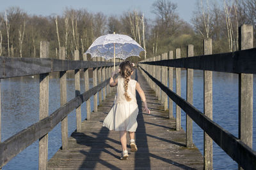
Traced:
[[[60, 108], [60, 79], [57, 73], [50, 74], [49, 80], [49, 114]], [[92, 78], [89, 80], [93, 86]], [[74, 71], [67, 73], [67, 101], [75, 97]], [[81, 73], [81, 93], [84, 90], [84, 79]], [[29, 125], [39, 120], [39, 78], [36, 75], [1, 80], [2, 101], [2, 141], [10, 138]], [[93, 97], [91, 97], [93, 110]], [[81, 106], [82, 120], [86, 118], [86, 105]], [[68, 115], [68, 136], [76, 130], [76, 111]], [[61, 124], [56, 125], [49, 133], [49, 159], [61, 146]], [[37, 169], [38, 141], [19, 153], [3, 169]]]

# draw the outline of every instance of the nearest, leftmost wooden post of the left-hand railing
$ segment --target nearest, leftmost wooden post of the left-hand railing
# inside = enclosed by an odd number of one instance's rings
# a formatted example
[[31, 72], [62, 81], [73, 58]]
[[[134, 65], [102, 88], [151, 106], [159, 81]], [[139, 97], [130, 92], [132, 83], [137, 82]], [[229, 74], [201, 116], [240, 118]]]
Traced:
[[[40, 41], [40, 58], [49, 58], [49, 42]], [[49, 73], [40, 74], [39, 120], [49, 116]], [[48, 134], [39, 139], [38, 169], [47, 169]]]

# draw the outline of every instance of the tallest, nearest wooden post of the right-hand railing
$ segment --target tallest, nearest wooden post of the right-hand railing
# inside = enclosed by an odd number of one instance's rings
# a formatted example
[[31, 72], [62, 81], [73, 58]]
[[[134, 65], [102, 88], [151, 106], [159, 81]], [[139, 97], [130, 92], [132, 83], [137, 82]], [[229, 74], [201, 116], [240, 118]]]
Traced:
[[[253, 26], [239, 27], [239, 50], [253, 48]], [[253, 74], [239, 74], [239, 139], [252, 148]], [[239, 169], [242, 169], [239, 167]]]

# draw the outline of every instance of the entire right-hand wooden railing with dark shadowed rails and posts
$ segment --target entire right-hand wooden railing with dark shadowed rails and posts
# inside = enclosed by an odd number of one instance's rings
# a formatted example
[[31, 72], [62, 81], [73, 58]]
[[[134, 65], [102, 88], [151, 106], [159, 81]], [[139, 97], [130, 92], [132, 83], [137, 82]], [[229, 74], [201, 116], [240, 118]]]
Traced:
[[[212, 140], [239, 166], [256, 169], [256, 152], [252, 150], [253, 134], [253, 74], [256, 74], [256, 48], [253, 48], [253, 27], [239, 28], [240, 51], [212, 54], [212, 39], [204, 39], [204, 55], [193, 56], [193, 45], [188, 45], [187, 57], [180, 58], [180, 48], [168, 54], [143, 60], [139, 63], [150, 87], [169, 109], [173, 117], [173, 101], [176, 106], [176, 130], [180, 130], [180, 108], [186, 113], [186, 146], [193, 146], [192, 120], [204, 130], [204, 167], [212, 166]], [[247, 50], [248, 49], [248, 50]], [[180, 67], [187, 69], [186, 99], [180, 97]], [[176, 93], [173, 92], [173, 69], [176, 69]], [[204, 113], [193, 106], [193, 69], [204, 70]], [[168, 72], [169, 70], [169, 72]], [[212, 121], [212, 71], [239, 74], [239, 138]], [[169, 76], [168, 76], [169, 74]], [[167, 80], [169, 78], [169, 87]], [[168, 97], [169, 108], [168, 108]], [[240, 168], [240, 167], [239, 167]]]

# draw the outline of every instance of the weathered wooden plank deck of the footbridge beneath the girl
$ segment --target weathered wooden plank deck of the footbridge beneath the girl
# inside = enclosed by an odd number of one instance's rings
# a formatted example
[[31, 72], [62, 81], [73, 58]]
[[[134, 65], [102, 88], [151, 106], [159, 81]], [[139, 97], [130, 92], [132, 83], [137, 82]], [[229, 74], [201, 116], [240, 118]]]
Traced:
[[142, 113], [137, 97], [138, 152], [130, 152], [128, 160], [120, 160], [119, 132], [102, 127], [114, 101], [115, 94], [111, 94], [98, 112], [92, 113], [92, 120], [84, 120], [82, 132], [72, 133], [67, 150], [58, 150], [49, 160], [49, 169], [204, 169], [202, 154], [198, 148], [185, 147], [184, 130], [175, 131], [175, 119], [168, 119], [168, 112], [163, 111], [140, 71], [134, 71], [133, 78], [140, 82], [151, 111], [150, 115]]

